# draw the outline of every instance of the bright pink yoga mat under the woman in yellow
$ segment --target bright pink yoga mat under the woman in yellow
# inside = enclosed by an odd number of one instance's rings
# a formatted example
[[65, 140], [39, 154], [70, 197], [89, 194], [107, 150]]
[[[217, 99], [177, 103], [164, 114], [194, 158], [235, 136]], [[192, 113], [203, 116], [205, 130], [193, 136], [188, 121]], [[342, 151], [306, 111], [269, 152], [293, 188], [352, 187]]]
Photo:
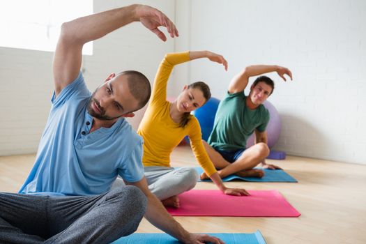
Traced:
[[300, 213], [277, 190], [248, 190], [250, 196], [224, 195], [220, 190], [190, 190], [179, 195], [175, 216], [298, 217]]

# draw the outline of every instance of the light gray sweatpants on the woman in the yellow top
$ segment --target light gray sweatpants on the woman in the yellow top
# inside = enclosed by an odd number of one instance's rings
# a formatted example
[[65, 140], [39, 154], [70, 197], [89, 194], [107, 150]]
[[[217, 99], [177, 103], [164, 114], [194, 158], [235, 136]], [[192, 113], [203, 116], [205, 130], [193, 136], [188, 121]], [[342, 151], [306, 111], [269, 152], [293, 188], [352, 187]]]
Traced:
[[198, 179], [194, 168], [144, 167], [148, 188], [160, 200], [179, 195], [195, 187]]

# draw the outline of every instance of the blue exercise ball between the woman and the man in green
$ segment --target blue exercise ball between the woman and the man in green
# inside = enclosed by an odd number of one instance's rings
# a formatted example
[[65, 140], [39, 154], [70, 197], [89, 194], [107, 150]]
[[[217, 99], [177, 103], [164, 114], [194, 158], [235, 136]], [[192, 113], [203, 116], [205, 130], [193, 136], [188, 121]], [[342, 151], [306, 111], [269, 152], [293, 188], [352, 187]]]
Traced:
[[202, 139], [207, 141], [210, 137], [213, 121], [215, 121], [215, 114], [218, 110], [220, 100], [218, 98], [210, 98], [205, 105], [199, 107], [193, 112], [193, 115], [198, 119], [199, 125], [201, 126]]

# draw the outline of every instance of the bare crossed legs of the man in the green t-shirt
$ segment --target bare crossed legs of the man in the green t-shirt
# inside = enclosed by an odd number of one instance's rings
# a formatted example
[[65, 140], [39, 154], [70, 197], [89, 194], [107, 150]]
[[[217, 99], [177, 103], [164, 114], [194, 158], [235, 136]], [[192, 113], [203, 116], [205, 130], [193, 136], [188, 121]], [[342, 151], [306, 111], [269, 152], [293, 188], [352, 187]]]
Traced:
[[[213, 165], [215, 165], [218, 170], [218, 174], [221, 178], [225, 178], [230, 174], [236, 174], [243, 177], [263, 177], [264, 171], [260, 169], [253, 169], [259, 163], [263, 162], [264, 159], [269, 155], [269, 148], [264, 143], [258, 143], [250, 148], [245, 149], [241, 156], [235, 162], [228, 162], [225, 160], [218, 151], [216, 151], [212, 146], [208, 145], [207, 142], [202, 141], [204, 147], [210, 157]], [[201, 179], [206, 179], [205, 173], [201, 174]]]

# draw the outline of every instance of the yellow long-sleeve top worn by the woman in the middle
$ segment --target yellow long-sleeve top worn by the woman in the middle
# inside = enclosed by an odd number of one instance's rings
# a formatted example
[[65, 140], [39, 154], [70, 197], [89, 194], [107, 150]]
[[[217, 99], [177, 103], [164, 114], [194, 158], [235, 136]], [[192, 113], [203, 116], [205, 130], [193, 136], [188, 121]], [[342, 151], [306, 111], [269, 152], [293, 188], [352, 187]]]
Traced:
[[167, 82], [171, 70], [179, 63], [190, 61], [190, 53], [165, 55], [155, 76], [151, 100], [139, 124], [137, 133], [144, 138], [144, 166], [170, 167], [170, 154], [179, 142], [188, 135], [199, 165], [208, 176], [216, 172], [213, 163], [201, 142], [201, 128], [195, 116], [190, 115], [188, 124], [179, 127], [170, 116], [170, 102], [167, 101]]

